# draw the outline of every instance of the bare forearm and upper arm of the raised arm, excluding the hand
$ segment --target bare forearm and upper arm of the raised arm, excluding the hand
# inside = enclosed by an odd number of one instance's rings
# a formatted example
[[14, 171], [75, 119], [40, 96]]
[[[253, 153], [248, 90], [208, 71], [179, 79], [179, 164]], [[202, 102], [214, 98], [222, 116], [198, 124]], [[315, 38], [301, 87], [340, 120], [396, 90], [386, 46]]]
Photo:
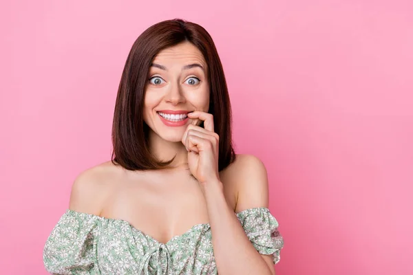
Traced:
[[[235, 211], [268, 207], [268, 179], [264, 164], [251, 155], [239, 155], [231, 177], [237, 181]], [[275, 275], [271, 255], [261, 255], [246, 236], [240, 221], [224, 198], [221, 181], [202, 184], [207, 200], [212, 242], [220, 274]]]

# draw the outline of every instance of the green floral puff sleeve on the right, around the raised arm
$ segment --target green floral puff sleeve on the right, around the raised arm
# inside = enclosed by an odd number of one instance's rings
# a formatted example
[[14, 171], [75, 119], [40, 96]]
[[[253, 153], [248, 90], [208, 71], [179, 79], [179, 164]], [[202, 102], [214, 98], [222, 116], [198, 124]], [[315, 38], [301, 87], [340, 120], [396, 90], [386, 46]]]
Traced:
[[278, 231], [278, 222], [268, 208], [251, 208], [237, 213], [246, 236], [260, 254], [272, 254], [273, 263], [279, 262], [284, 239]]

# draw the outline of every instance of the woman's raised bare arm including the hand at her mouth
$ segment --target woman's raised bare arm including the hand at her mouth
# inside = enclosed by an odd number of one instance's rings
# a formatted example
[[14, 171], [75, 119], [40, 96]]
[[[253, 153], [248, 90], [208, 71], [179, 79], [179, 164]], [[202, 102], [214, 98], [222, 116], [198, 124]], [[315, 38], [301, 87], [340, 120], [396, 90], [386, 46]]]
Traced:
[[[270, 258], [261, 256], [255, 249], [224, 197], [218, 173], [220, 137], [214, 132], [213, 115], [194, 111], [188, 113], [188, 117], [194, 124], [187, 127], [182, 136], [182, 144], [188, 151], [189, 170], [198, 179], [207, 201], [218, 271], [223, 275], [274, 275], [275, 270], [273, 263], [269, 261]], [[195, 125], [197, 119], [204, 121], [204, 128]], [[241, 155], [239, 158], [226, 170], [231, 182], [237, 183], [238, 199], [235, 211], [256, 207], [268, 208], [268, 180], [264, 165], [253, 156]]]

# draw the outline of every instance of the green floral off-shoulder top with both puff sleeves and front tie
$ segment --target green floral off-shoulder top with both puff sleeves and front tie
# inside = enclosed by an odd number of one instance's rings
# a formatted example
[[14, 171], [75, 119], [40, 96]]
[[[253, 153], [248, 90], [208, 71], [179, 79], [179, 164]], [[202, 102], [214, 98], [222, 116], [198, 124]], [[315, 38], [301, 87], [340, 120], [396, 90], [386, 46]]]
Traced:
[[[250, 208], [237, 218], [260, 254], [279, 262], [284, 241], [268, 208]], [[209, 223], [160, 243], [128, 221], [66, 210], [47, 238], [43, 262], [51, 274], [218, 274]]]

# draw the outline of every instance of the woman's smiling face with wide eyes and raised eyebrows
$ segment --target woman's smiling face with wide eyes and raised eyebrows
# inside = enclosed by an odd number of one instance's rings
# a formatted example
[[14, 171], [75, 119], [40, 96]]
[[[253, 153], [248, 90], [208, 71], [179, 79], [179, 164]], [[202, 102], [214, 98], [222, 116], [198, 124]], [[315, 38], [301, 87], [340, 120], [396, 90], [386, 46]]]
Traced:
[[180, 142], [191, 111], [209, 109], [207, 62], [195, 45], [180, 43], [153, 59], [145, 87], [143, 118], [149, 129], [169, 142]]

